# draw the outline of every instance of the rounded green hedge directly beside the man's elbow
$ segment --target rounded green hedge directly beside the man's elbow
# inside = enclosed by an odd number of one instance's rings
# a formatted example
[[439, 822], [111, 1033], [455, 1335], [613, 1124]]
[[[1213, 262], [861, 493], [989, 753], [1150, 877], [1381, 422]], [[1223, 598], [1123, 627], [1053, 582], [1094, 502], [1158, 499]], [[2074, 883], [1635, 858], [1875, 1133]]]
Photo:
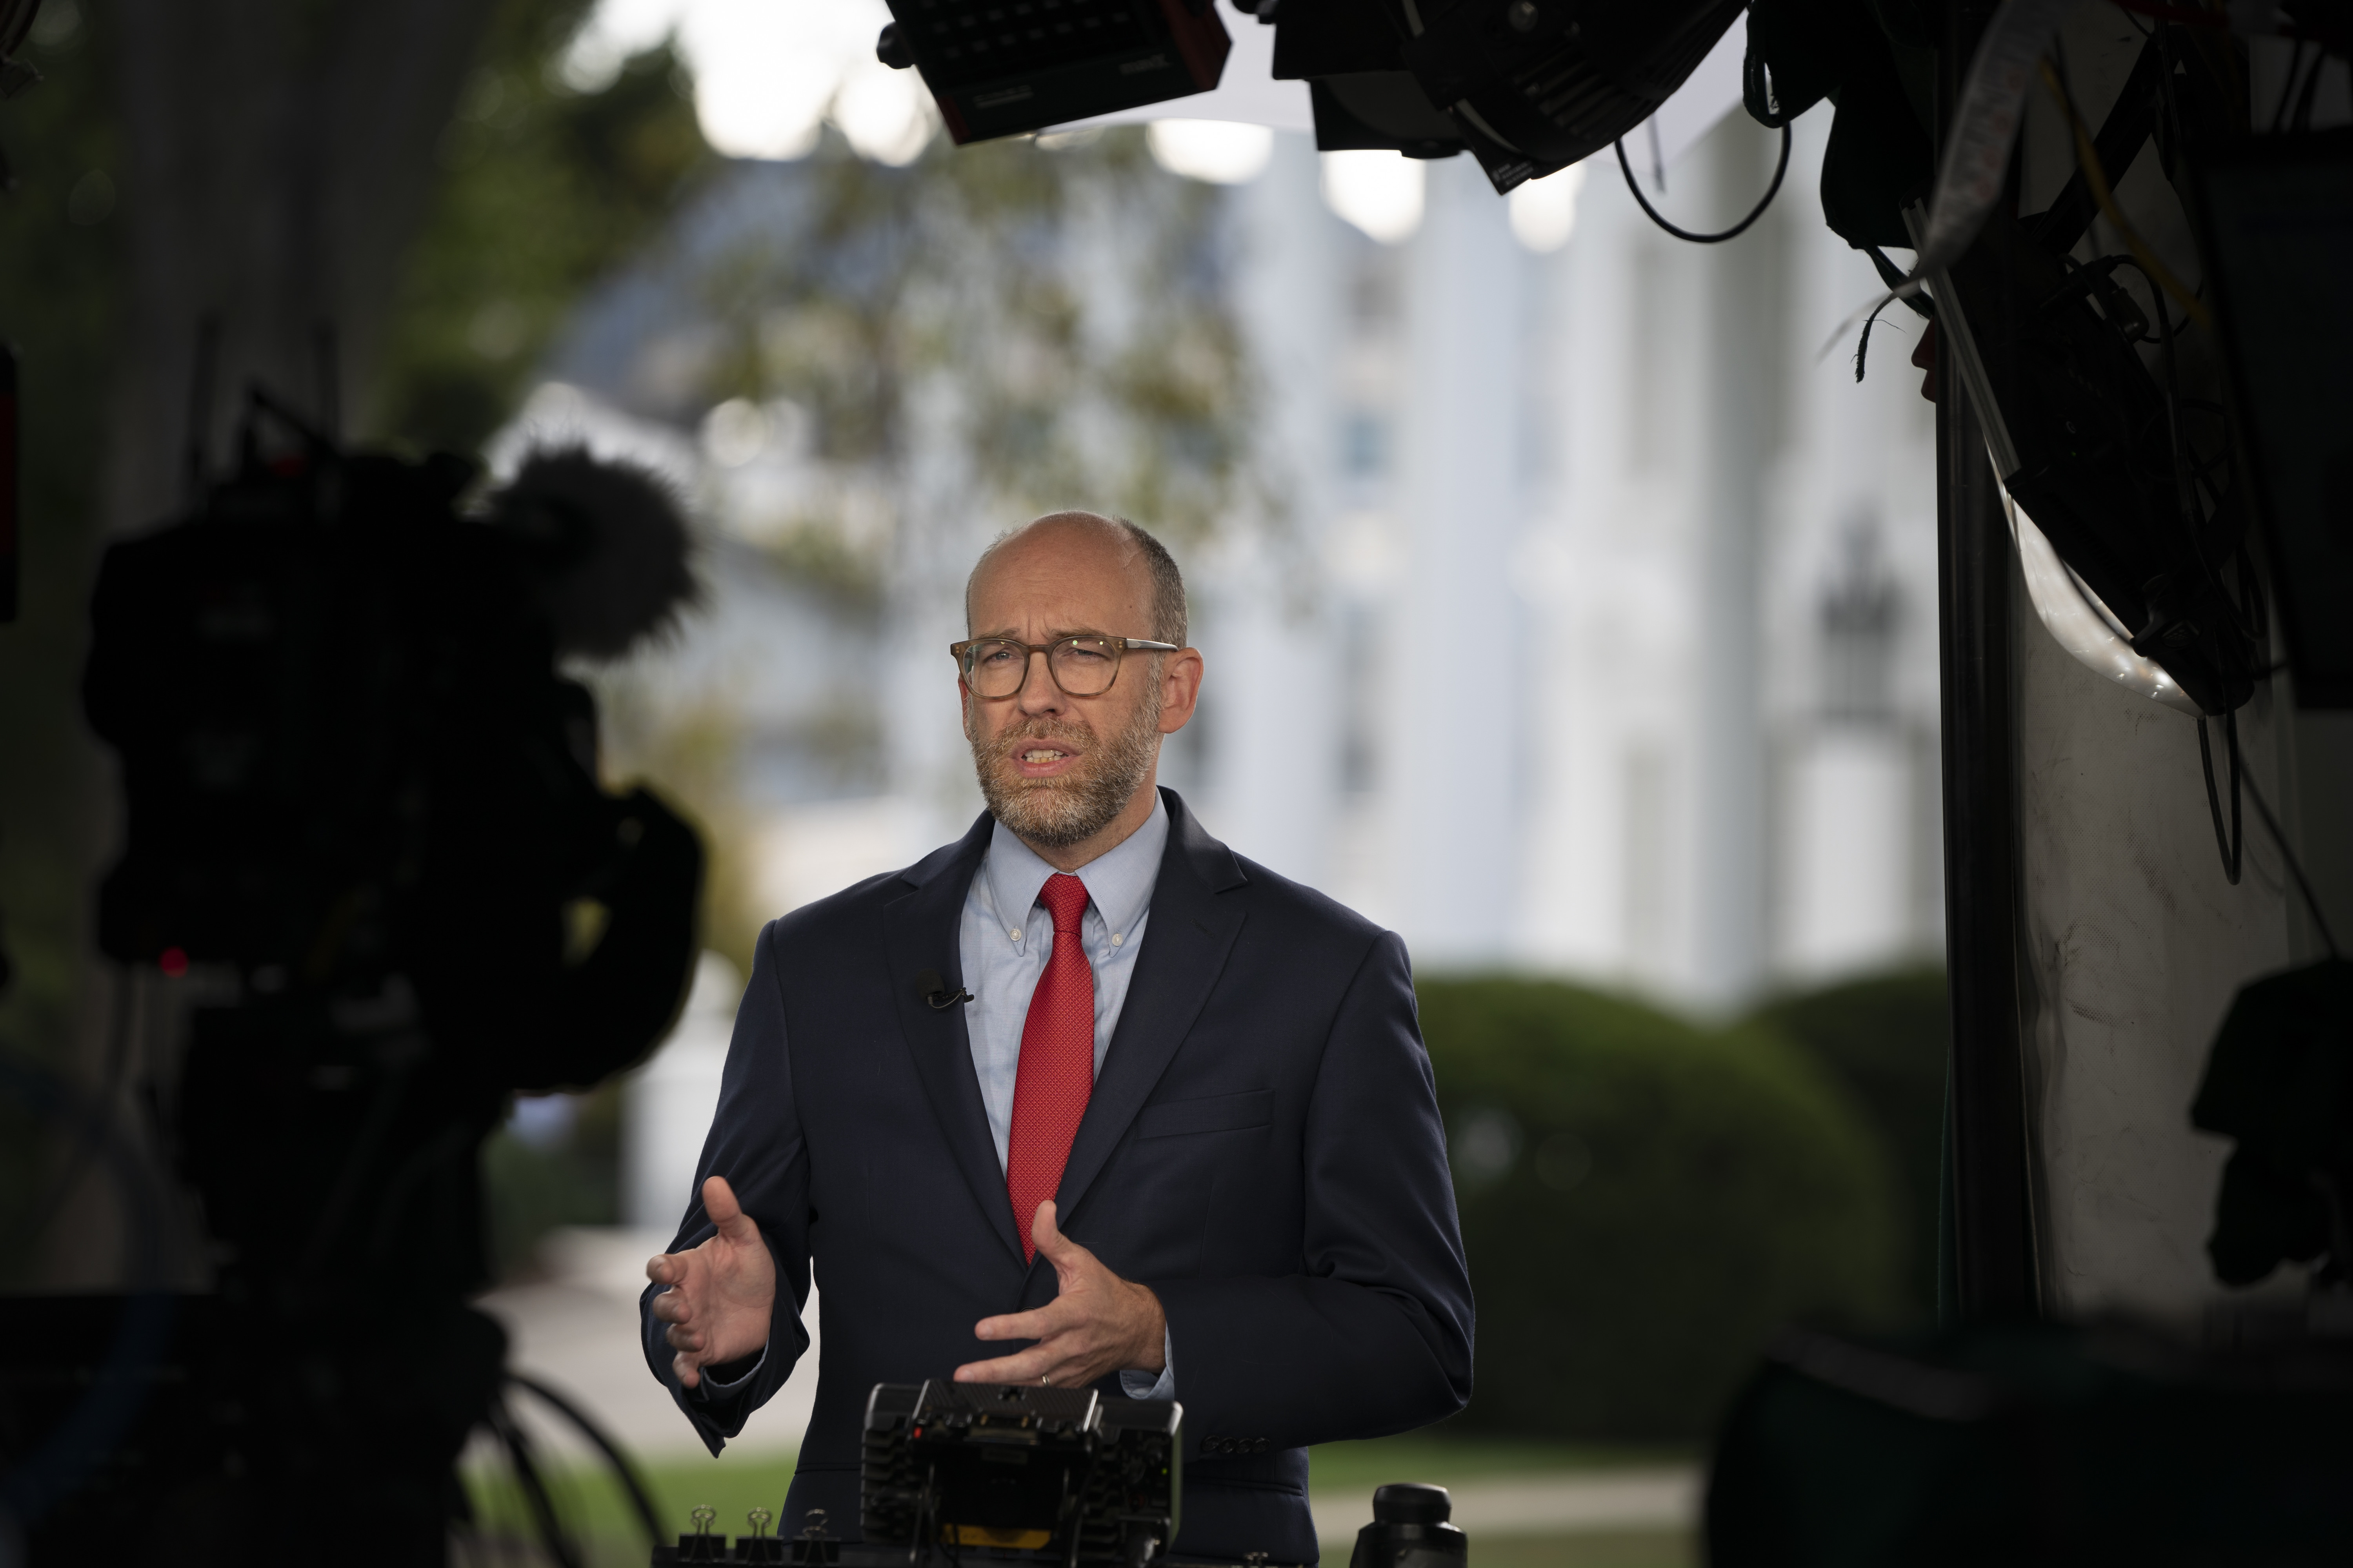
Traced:
[[1887, 1154], [1788, 1041], [1548, 980], [1419, 997], [1478, 1293], [1466, 1427], [1697, 1439], [1781, 1324], [1894, 1305]]

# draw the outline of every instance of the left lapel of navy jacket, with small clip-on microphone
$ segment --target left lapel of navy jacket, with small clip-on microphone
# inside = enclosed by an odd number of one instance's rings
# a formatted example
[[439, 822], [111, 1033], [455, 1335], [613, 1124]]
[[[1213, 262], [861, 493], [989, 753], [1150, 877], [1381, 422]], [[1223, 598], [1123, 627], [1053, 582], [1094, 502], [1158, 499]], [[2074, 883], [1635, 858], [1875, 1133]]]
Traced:
[[[965, 1032], [965, 1009], [934, 1009], [915, 992], [915, 976], [936, 969], [948, 990], [965, 983], [960, 924], [972, 875], [988, 851], [993, 820], [981, 813], [960, 842], [927, 856], [906, 872], [915, 891], [882, 910], [882, 943], [889, 961], [889, 992], [899, 1006], [899, 1030], [906, 1034], [915, 1077], [922, 1079], [932, 1114], [948, 1138], [948, 1152], [972, 1187], [974, 1201], [988, 1215], [1014, 1260], [1021, 1241], [1014, 1237], [1012, 1204], [1005, 1199], [1005, 1173], [998, 1168], [998, 1145], [988, 1135], [988, 1110], [981, 1105], [981, 1081], [972, 1072], [972, 1037]], [[1146, 926], [1146, 940], [1151, 926]]]

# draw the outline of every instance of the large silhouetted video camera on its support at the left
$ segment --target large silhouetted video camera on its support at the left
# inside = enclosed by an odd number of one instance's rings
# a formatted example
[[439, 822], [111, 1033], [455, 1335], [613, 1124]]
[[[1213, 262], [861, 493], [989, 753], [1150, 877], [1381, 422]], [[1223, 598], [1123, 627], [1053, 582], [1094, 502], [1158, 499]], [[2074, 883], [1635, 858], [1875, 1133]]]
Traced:
[[[233, 470], [106, 552], [82, 698], [125, 853], [99, 945], [202, 980], [155, 1112], [219, 1272], [104, 1366], [0, 1368], [0, 1462], [42, 1476], [9, 1505], [33, 1563], [445, 1561], [452, 1465], [504, 1420], [506, 1335], [466, 1305], [482, 1138], [511, 1093], [642, 1056], [685, 997], [701, 842], [600, 785], [560, 668], [692, 599], [685, 520], [576, 449], [480, 501], [475, 477], [254, 390]], [[66, 1363], [54, 1331], [21, 1342]]]

